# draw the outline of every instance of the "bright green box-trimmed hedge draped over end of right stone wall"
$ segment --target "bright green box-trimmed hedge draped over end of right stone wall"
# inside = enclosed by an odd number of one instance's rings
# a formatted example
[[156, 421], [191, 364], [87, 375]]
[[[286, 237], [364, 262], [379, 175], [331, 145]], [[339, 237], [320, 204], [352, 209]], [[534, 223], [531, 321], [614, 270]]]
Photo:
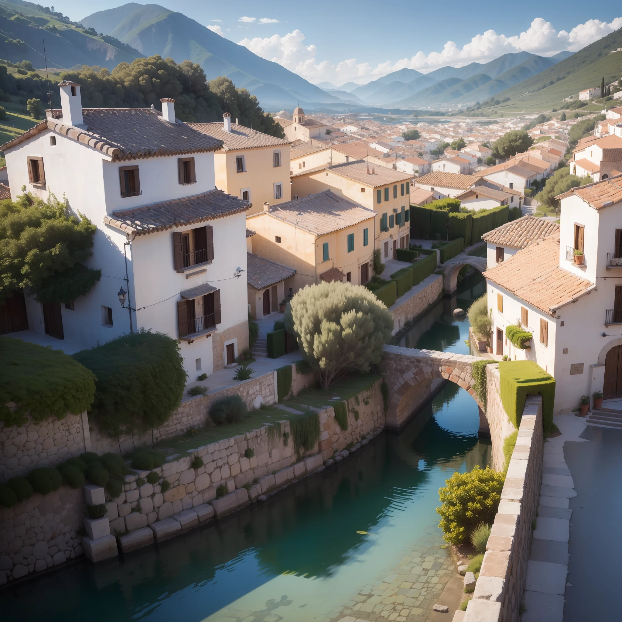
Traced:
[[501, 403], [515, 427], [521, 424], [528, 395], [542, 396], [542, 426], [550, 432], [553, 426], [555, 378], [535, 361], [501, 361], [499, 363]]

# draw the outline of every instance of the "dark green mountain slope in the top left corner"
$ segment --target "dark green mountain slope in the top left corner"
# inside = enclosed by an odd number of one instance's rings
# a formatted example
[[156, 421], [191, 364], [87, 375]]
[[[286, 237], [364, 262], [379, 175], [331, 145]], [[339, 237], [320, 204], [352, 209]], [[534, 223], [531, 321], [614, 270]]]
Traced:
[[21, 0], [0, 2], [0, 34], [0, 58], [12, 63], [29, 60], [37, 68], [45, 66], [43, 41], [48, 66], [58, 69], [74, 65], [113, 69], [142, 56], [130, 45], [78, 27], [61, 13]]

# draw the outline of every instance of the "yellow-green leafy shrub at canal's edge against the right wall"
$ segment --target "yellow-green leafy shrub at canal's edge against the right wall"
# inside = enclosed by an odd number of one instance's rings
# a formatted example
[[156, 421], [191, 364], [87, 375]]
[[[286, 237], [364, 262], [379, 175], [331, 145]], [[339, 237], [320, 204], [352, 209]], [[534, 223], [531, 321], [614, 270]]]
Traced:
[[493, 522], [504, 480], [504, 473], [488, 466], [485, 469], [474, 466], [470, 473], [454, 473], [445, 480], [447, 486], [439, 490], [442, 506], [436, 509], [445, 541], [464, 544], [480, 522]]

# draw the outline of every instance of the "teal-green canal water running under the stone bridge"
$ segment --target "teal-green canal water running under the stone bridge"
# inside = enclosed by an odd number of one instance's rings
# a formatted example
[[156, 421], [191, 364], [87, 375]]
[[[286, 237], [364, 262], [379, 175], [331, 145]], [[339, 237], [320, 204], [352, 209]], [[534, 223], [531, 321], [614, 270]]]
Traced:
[[[467, 277], [456, 300], [441, 301], [440, 313], [435, 307], [422, 318], [427, 328], [414, 326], [403, 339], [468, 352], [468, 320], [451, 310], [457, 302], [467, 309], [481, 281]], [[378, 608], [367, 611], [361, 601], [406, 577], [399, 610], [424, 620], [453, 572], [437, 527], [438, 490], [453, 471], [490, 463], [478, 425], [475, 401], [446, 383], [399, 434], [381, 434], [267, 503], [158, 547], [98, 565], [77, 562], [7, 588], [2, 618], [376, 620]]]

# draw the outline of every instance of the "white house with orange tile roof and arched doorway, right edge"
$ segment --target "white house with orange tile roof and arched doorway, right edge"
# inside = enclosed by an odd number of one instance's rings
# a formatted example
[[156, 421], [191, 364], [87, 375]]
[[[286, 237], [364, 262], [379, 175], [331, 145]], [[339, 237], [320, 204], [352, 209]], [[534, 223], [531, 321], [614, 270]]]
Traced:
[[[498, 264], [489, 259], [485, 277], [494, 352], [552, 374], [555, 412], [564, 413], [595, 391], [622, 396], [622, 175], [558, 198], [559, 232]], [[529, 350], [506, 340], [505, 328], [517, 323], [533, 335]]]

